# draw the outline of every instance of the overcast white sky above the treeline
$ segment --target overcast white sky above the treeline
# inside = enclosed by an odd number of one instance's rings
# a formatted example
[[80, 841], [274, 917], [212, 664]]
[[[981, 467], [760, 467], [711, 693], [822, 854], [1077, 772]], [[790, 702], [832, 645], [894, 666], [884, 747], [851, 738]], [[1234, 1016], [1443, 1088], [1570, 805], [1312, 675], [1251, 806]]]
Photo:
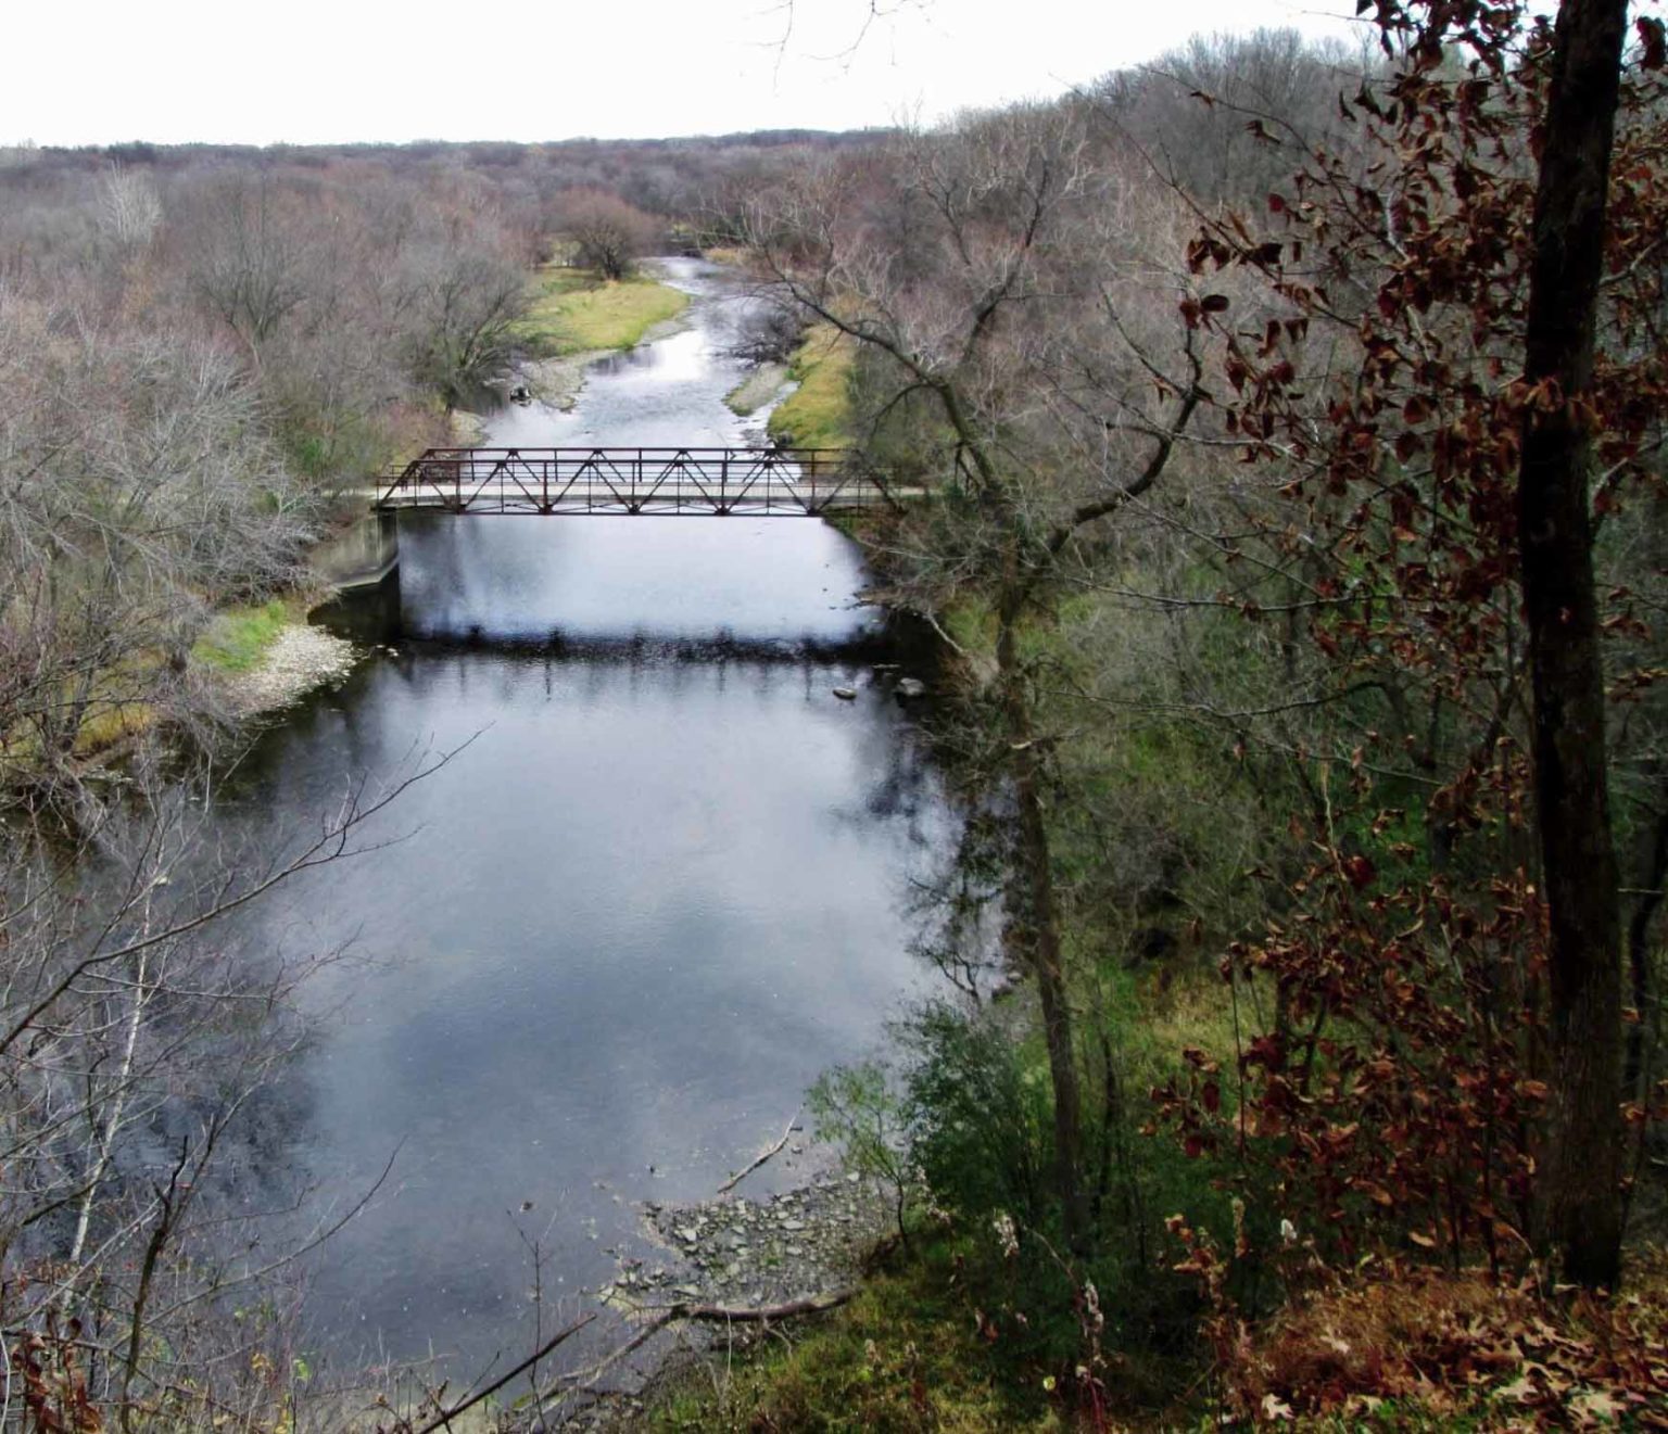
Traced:
[[[859, 128], [1349, 0], [68, 0], [7, 7], [0, 145]], [[887, 13], [889, 12], [889, 13]], [[789, 18], [792, 25], [789, 28]]]

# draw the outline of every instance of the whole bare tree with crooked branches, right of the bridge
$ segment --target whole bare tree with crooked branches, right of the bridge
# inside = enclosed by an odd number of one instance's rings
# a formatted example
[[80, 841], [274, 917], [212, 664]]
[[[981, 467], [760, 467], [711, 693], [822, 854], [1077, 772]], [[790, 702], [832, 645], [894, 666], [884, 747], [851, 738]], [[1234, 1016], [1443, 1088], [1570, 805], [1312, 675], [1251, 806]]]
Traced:
[[[914, 582], [994, 619], [986, 760], [1011, 794], [1006, 919], [1036, 980], [1054, 1089], [1056, 1182], [1076, 1251], [1091, 1241], [1083, 1092], [1049, 837], [1059, 735], [1039, 715], [1027, 627], [1079, 537], [1164, 474], [1201, 402], [1179, 280], [1136, 263], [1111, 218], [1131, 193], [1071, 108], [1014, 110], [909, 135], [882, 160], [824, 167], [751, 238], [794, 302], [884, 370], [881, 412], [917, 397], [939, 432]], [[1171, 285], [1154, 305], [1154, 283]], [[1161, 290], [1163, 293], [1163, 290]], [[1166, 302], [1168, 298], [1168, 302]], [[1168, 313], [1164, 312], [1168, 308]], [[1154, 312], [1156, 310], [1156, 312]]]

